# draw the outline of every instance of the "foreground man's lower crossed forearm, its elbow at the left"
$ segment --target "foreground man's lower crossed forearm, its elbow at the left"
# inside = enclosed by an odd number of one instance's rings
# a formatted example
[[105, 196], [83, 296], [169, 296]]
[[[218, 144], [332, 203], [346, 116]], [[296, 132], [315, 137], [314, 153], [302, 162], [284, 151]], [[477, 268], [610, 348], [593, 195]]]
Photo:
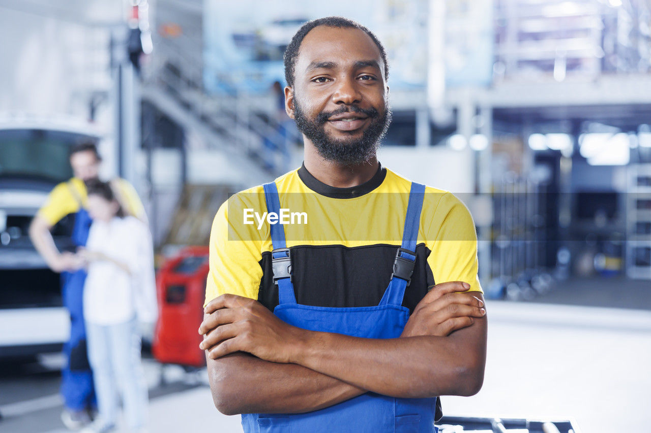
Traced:
[[366, 392], [301, 365], [243, 352], [206, 360], [215, 406], [226, 415], [310, 412]]

